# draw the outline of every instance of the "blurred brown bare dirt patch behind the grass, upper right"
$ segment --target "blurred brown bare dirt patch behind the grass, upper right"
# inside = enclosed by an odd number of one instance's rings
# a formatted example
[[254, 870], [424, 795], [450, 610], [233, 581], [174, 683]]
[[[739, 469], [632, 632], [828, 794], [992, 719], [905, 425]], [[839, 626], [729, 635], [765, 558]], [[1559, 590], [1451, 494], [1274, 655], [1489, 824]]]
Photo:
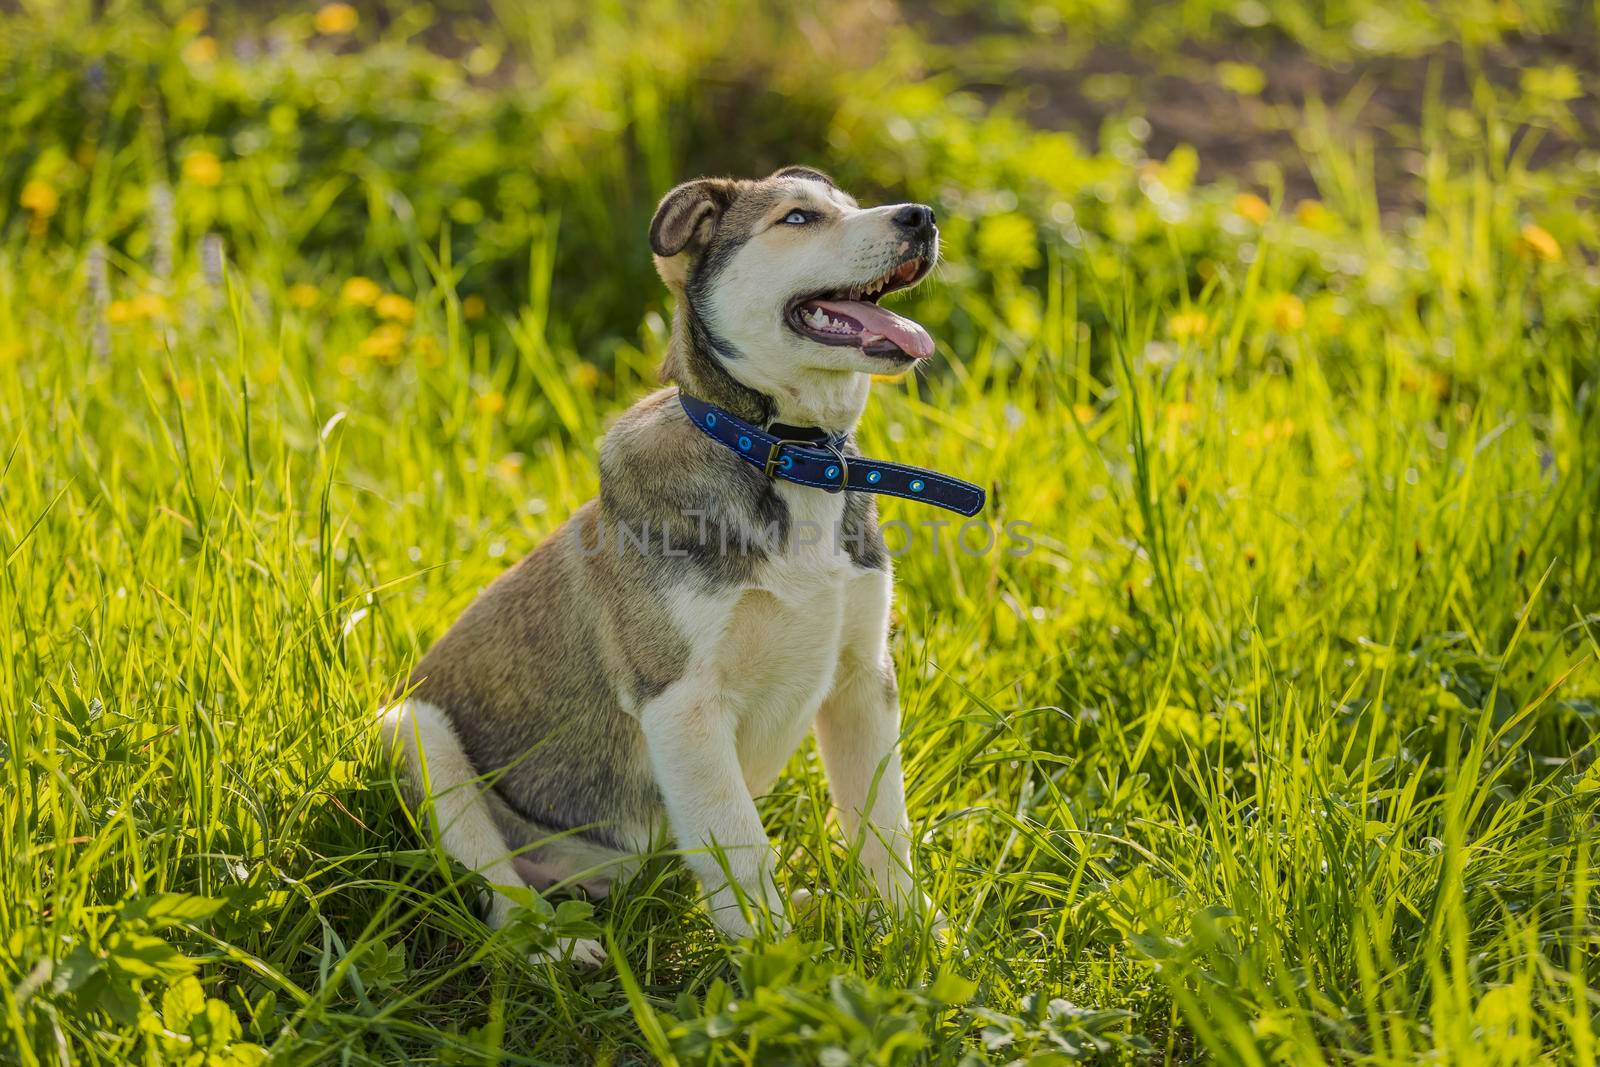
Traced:
[[[1594, 56], [1600, 54], [1600, 35], [1587, 29], [1507, 42], [1478, 53], [1475, 61], [1459, 45], [1445, 45], [1418, 56], [1318, 62], [1283, 38], [1187, 43], [1149, 56], [1085, 43], [1070, 30], [995, 37], [992, 26], [971, 18], [939, 18], [917, 8], [902, 5], [907, 18], [941, 46], [946, 70], [962, 88], [990, 102], [1016, 102], [1035, 126], [1066, 130], [1086, 146], [1104, 147], [1099, 133], [1107, 118], [1139, 115], [1149, 123], [1146, 152], [1152, 158], [1189, 144], [1200, 155], [1202, 181], [1229, 178], [1266, 190], [1275, 173], [1288, 203], [1330, 194], [1307, 154], [1318, 136], [1342, 146], [1366, 141], [1386, 214], [1406, 213], [1421, 202], [1424, 123], [1443, 122], [1450, 109], [1472, 107], [1480, 77], [1499, 90], [1501, 99], [1515, 101], [1523, 70], [1565, 64], [1592, 82]], [[1227, 88], [1221, 77], [1226, 64], [1259, 72], [1259, 91]], [[1592, 85], [1584, 88], [1568, 102], [1571, 122], [1565, 125], [1533, 125], [1509, 110], [1512, 149], [1536, 136], [1530, 163], [1547, 166], [1600, 147], [1600, 98]], [[1312, 101], [1325, 106], [1322, 133], [1309, 118]]]

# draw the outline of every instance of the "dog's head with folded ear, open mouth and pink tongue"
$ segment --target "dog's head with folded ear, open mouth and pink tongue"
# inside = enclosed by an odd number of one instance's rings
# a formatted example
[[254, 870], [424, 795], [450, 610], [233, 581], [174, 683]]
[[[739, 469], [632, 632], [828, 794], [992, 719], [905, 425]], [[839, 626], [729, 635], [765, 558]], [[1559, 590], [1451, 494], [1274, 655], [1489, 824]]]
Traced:
[[878, 306], [939, 256], [923, 205], [862, 208], [808, 166], [701, 178], [662, 198], [650, 246], [694, 339], [763, 395], [800, 398], [933, 355], [926, 330]]

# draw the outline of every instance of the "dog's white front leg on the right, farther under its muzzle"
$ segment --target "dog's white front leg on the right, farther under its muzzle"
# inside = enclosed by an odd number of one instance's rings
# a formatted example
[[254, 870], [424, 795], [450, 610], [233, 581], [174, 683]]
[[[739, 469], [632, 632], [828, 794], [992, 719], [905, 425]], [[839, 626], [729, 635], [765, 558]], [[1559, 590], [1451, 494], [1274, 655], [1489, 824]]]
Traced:
[[845, 653], [834, 688], [818, 712], [816, 741], [840, 825], [851, 841], [861, 835], [861, 862], [883, 899], [898, 909], [920, 905], [910, 877], [899, 686], [886, 648], [875, 649], [869, 659]]

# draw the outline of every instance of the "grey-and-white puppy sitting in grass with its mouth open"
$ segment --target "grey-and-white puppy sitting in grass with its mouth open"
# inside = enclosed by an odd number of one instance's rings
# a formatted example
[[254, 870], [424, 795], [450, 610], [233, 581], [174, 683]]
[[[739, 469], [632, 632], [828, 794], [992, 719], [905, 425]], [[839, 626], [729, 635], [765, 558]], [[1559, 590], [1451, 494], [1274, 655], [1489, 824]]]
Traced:
[[[754, 798], [814, 726], [861, 862], [886, 902], [923, 909], [874, 493], [965, 483], [896, 464], [862, 475], [851, 432], [874, 374], [934, 350], [877, 304], [933, 269], [934, 213], [862, 208], [789, 166], [672, 189], [650, 246], [675, 299], [670, 386], [616, 421], [598, 498], [427, 651], [384, 733], [442, 846], [491, 888], [603, 894], [667, 827], [739, 937], [792, 910]], [[765, 459], [741, 454], [752, 435]], [[878, 485], [838, 491], [861, 478]], [[490, 925], [510, 910], [496, 893]], [[603, 958], [592, 941], [563, 950]]]

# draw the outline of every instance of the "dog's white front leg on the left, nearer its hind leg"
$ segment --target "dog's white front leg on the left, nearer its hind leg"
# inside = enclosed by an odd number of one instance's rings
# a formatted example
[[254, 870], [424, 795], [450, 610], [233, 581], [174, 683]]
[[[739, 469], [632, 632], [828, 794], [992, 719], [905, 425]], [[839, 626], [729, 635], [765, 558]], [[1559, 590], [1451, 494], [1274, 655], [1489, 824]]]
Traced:
[[781, 925], [773, 846], [744, 784], [733, 709], [682, 678], [643, 707], [640, 725], [672, 835], [706, 888], [712, 920], [731, 937], [752, 933], [746, 907]]

